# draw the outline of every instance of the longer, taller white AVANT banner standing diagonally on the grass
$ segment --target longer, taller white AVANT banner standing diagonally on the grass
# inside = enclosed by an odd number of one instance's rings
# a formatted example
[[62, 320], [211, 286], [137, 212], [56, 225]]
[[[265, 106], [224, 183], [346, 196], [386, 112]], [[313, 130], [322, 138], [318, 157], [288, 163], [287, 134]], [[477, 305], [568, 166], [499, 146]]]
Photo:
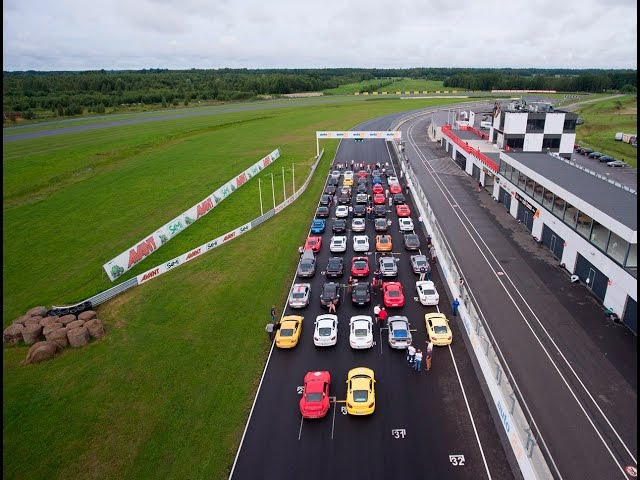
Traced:
[[269, 155], [261, 158], [259, 161], [251, 165], [244, 172], [222, 185], [207, 198], [192, 206], [189, 210], [181, 213], [170, 222], [164, 224], [147, 238], [140, 240], [137, 244], [128, 248], [117, 257], [109, 260], [102, 266], [105, 272], [107, 272], [109, 279], [113, 282], [120, 275], [151, 255], [162, 245], [193, 224], [196, 220], [213, 210], [220, 202], [235, 192], [237, 188], [244, 185], [265, 167], [275, 162], [279, 157], [280, 150], [275, 149]]

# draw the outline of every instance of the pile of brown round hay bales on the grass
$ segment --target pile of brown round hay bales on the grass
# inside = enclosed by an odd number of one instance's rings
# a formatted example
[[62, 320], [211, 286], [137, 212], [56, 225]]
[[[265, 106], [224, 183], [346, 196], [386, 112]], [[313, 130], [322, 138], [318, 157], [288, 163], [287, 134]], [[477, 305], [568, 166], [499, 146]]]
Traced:
[[33, 307], [4, 329], [6, 345], [31, 345], [23, 365], [53, 358], [62, 349], [83, 347], [92, 338], [105, 335], [102, 321], [96, 312], [88, 310], [75, 315], [47, 316], [45, 307]]

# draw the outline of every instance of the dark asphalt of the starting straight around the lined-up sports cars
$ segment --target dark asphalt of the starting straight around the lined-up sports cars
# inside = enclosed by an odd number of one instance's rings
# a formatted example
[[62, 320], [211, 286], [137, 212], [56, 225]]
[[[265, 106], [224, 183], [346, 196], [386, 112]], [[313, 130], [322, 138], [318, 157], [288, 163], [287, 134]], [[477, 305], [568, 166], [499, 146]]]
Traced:
[[[343, 140], [334, 161], [350, 163], [352, 159], [369, 164], [389, 162], [390, 171], [395, 173], [384, 140], [370, 140], [366, 144]], [[338, 191], [343, 179], [341, 175]], [[399, 181], [404, 187], [402, 179]], [[354, 182], [352, 206], [356, 204], [356, 185]], [[385, 191], [389, 187], [385, 177], [383, 186]], [[367, 193], [372, 194], [371, 174], [367, 175]], [[390, 316], [403, 315], [409, 319], [414, 344], [423, 351], [427, 338], [424, 316], [441, 311], [451, 320], [453, 343], [434, 347], [431, 371], [425, 371], [423, 362], [420, 373], [409, 367], [404, 349], [390, 347], [386, 328], [374, 325], [371, 348], [351, 348], [351, 317], [373, 317], [374, 305], [383, 303], [378, 291], [370, 305], [352, 305], [348, 288], [352, 258], [369, 258], [371, 273], [359, 281], [371, 282], [381, 253], [376, 252], [377, 233], [370, 219], [365, 220], [364, 232], [355, 233], [368, 237], [369, 250], [354, 252], [351, 218], [347, 218], [346, 232], [340, 234], [347, 237], [346, 251], [330, 252], [337, 209], [331, 204], [326, 231], [310, 232], [310, 236], [322, 238], [316, 255], [317, 271], [311, 278], [294, 279], [294, 283], [310, 284], [310, 303], [304, 308], [287, 306], [284, 311], [284, 315], [304, 317], [299, 342], [294, 348], [272, 348], [231, 478], [388, 479], [405, 475], [422, 478], [424, 472], [430, 472], [433, 478], [513, 478], [460, 330], [452, 320], [452, 299], [433, 264], [431, 280], [440, 295], [439, 305], [424, 306], [418, 301], [419, 275], [413, 272], [410, 257], [428, 252], [425, 232], [419, 228], [410, 196], [406, 197], [406, 204], [420, 241], [417, 251], [405, 250], [395, 206], [390, 207], [388, 201], [384, 204], [385, 218], [390, 220], [387, 233], [392, 248], [383, 255], [393, 257], [398, 267], [397, 276], [388, 280], [400, 282], [405, 296], [404, 306], [387, 310]], [[312, 221], [310, 218], [310, 226]], [[343, 258], [344, 273], [328, 279], [325, 270], [329, 258], [336, 256]], [[322, 285], [328, 281], [340, 283], [341, 299], [336, 310], [338, 338], [335, 346], [317, 347], [313, 339], [314, 320], [328, 312], [319, 298]], [[283, 307], [277, 307], [280, 314]], [[347, 372], [354, 367], [367, 367], [375, 372], [375, 412], [371, 415], [347, 414], [345, 382]], [[328, 371], [331, 375], [329, 411], [325, 417], [313, 420], [303, 419], [299, 409], [303, 379], [309, 371]]]

